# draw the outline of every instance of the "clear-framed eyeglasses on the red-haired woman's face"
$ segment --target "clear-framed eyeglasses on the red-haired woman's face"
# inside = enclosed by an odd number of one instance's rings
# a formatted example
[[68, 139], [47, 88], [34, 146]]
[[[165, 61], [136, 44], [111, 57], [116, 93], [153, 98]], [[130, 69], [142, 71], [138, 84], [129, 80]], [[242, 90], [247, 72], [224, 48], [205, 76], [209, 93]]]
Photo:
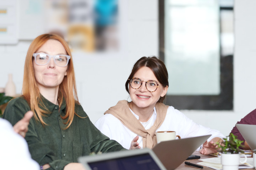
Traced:
[[43, 66], [50, 62], [50, 59], [53, 58], [55, 64], [60, 67], [66, 67], [68, 65], [70, 56], [68, 55], [54, 55], [51, 56], [45, 53], [33, 53], [34, 60], [37, 65]]

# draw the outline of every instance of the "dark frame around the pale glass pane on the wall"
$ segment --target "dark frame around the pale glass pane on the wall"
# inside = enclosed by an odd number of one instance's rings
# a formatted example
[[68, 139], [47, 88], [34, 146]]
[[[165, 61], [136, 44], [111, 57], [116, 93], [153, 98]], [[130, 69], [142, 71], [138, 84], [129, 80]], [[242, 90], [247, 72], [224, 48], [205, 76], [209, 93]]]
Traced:
[[[223, 25], [226, 23], [226, 19], [230, 20], [229, 26], [231, 28], [226, 29], [226, 26]], [[219, 7], [219, 27], [219, 94], [167, 95], [165, 104], [174, 106], [176, 109], [233, 110], [233, 42], [230, 43], [231, 40], [227, 38], [233, 37], [233, 6]], [[167, 57], [165, 38], [165, 1], [159, 0], [159, 57], [164, 62]]]

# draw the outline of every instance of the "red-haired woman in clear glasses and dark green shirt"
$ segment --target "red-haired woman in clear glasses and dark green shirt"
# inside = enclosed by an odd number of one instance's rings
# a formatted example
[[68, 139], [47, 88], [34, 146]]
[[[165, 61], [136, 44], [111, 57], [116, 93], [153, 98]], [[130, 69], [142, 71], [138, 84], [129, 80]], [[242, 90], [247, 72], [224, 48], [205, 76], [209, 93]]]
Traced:
[[83, 169], [80, 156], [124, 149], [102, 135], [79, 104], [71, 52], [60, 36], [43, 34], [31, 43], [22, 94], [8, 103], [3, 118], [14, 125], [33, 111], [25, 139], [41, 169]]

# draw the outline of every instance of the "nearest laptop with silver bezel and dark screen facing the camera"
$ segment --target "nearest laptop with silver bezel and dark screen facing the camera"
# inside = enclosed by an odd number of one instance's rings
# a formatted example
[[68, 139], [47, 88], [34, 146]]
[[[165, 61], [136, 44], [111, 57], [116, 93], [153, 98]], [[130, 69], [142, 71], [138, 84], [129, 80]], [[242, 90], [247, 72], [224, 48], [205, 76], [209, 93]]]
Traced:
[[86, 170], [166, 170], [148, 148], [78, 158]]

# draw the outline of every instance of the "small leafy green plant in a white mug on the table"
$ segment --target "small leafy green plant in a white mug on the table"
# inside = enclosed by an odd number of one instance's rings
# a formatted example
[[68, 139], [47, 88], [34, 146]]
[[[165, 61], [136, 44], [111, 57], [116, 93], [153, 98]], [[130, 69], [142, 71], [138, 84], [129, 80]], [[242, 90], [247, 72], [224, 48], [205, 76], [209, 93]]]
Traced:
[[244, 153], [242, 149], [239, 147], [244, 147], [242, 142], [235, 136], [234, 134], [230, 133], [229, 136], [223, 139], [223, 142], [217, 142], [218, 145], [218, 152], [221, 152], [221, 163], [223, 170], [238, 170], [240, 163], [245, 163], [247, 157], [245, 155], [245, 160], [240, 162], [240, 154]]

